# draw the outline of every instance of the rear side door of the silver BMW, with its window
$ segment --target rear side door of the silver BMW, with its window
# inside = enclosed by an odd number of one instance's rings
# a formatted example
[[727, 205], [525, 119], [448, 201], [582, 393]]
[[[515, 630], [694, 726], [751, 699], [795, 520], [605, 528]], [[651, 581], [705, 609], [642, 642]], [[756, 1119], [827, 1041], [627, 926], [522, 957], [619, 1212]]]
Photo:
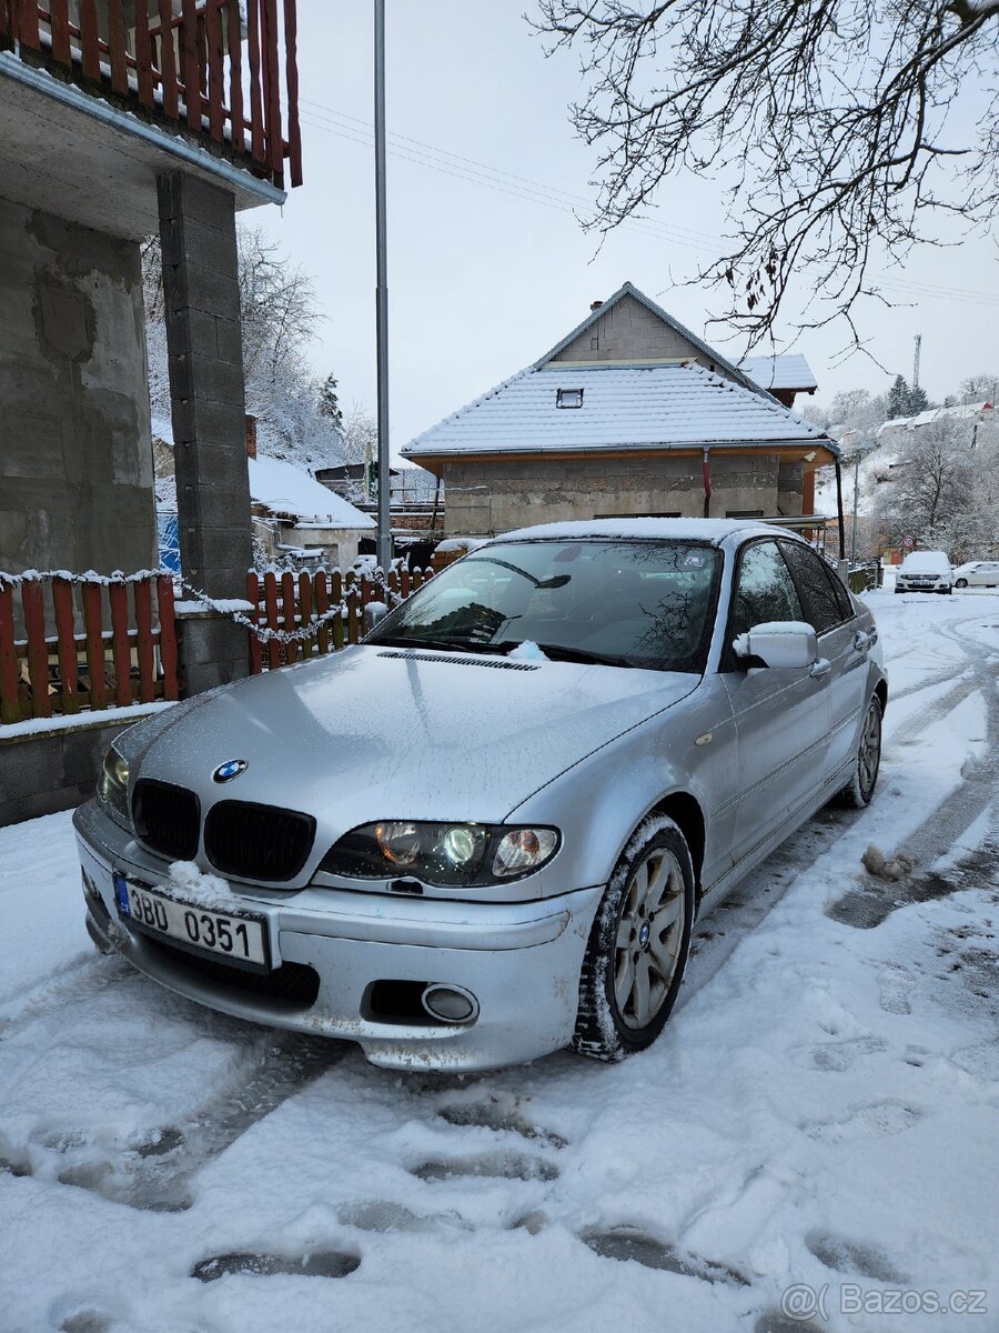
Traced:
[[781, 549], [790, 565], [805, 620], [818, 636], [819, 656], [830, 664], [826, 694], [830, 712], [827, 776], [831, 776], [856, 749], [860, 714], [867, 706], [867, 653], [876, 639], [860, 629], [850, 593], [811, 547], [782, 541]]

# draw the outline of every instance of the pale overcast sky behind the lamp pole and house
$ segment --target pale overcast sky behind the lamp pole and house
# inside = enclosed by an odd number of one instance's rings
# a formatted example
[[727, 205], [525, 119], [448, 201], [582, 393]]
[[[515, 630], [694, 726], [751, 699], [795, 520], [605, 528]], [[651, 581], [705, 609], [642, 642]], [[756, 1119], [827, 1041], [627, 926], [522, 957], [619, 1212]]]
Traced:
[[[537, 360], [626, 279], [727, 355], [745, 349], [706, 325], [721, 293], [679, 285], [726, 229], [711, 181], [671, 184], [649, 221], [619, 228], [597, 253], [574, 216], [595, 193], [595, 152], [567, 115], [583, 91], [577, 57], [546, 60], [525, 8], [533, 0], [386, 4], [393, 453]], [[252, 220], [316, 281], [317, 372], [337, 376], [346, 407], [374, 411], [370, 0], [300, 0], [298, 40], [305, 184], [282, 212]], [[931, 399], [972, 371], [999, 371], [994, 241], [924, 249], [891, 281], [886, 295], [904, 304], [866, 308], [862, 328], [892, 376], [911, 376], [916, 332]], [[817, 401], [890, 383], [866, 357], [836, 364], [844, 341], [836, 328], [794, 347], [815, 372]]]

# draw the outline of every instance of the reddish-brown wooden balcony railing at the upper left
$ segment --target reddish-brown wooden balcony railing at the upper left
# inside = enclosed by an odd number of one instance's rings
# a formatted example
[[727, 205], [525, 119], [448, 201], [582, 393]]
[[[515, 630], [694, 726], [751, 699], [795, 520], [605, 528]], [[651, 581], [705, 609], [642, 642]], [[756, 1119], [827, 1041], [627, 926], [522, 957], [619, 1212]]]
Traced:
[[0, 0], [5, 47], [301, 184], [296, 0]]

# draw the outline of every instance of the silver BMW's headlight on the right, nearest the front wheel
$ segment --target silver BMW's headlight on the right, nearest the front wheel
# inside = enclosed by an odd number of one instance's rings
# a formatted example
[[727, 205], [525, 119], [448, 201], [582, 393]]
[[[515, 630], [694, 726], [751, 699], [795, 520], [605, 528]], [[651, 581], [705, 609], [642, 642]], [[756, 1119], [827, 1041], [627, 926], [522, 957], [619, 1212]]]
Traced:
[[358, 880], [412, 877], [442, 889], [518, 880], [558, 850], [555, 829], [382, 820], [345, 833], [321, 870]]

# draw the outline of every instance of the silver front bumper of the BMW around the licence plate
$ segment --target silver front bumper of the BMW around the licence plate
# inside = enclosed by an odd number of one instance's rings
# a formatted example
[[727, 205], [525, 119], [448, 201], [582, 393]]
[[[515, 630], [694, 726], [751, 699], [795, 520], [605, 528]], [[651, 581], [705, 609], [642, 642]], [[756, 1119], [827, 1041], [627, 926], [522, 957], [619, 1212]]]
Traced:
[[[112, 872], [149, 884], [148, 853], [96, 801], [83, 805], [73, 824], [95, 944], [200, 1004], [254, 1022], [357, 1041], [373, 1064], [392, 1069], [518, 1064], [558, 1050], [573, 1036], [579, 972], [602, 886], [534, 902], [489, 904], [341, 889], [241, 892], [234, 885], [245, 909], [265, 920], [272, 966], [296, 977], [306, 974], [302, 969], [314, 973], [318, 989], [302, 994], [296, 986], [261, 988], [225, 961], [205, 962], [129, 926], [117, 912]], [[366, 997], [380, 981], [457, 986], [476, 997], [478, 1012], [464, 1025], [426, 1016], [374, 1017]]]

